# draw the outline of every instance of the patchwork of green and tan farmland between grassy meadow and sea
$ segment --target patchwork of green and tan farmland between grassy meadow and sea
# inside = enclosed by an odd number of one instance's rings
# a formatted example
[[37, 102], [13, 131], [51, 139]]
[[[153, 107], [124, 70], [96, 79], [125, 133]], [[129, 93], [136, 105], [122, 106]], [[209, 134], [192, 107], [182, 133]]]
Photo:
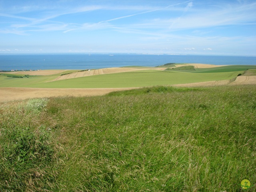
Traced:
[[[0, 73], [0, 102], [50, 96], [94, 96], [147, 86], [256, 84], [256, 66], [165, 64], [97, 70], [40, 70]], [[72, 89], [72, 90], [71, 90]]]

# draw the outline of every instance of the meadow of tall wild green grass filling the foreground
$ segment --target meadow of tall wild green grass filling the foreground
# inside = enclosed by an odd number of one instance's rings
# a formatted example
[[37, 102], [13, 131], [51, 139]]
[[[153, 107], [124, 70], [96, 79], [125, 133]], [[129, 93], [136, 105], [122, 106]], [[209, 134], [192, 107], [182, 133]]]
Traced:
[[4, 103], [0, 191], [242, 191], [255, 119], [255, 85]]

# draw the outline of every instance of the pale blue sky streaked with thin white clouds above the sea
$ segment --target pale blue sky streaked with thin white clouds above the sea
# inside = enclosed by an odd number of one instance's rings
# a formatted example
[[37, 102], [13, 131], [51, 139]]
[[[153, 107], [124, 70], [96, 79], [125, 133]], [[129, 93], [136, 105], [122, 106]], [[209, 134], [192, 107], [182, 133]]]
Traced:
[[255, 0], [0, 0], [0, 54], [256, 56]]

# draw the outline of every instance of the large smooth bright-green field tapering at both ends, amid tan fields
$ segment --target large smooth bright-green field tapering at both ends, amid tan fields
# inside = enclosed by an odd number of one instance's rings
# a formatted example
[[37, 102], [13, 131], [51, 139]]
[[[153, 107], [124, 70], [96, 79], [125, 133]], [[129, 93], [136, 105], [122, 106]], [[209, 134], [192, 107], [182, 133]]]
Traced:
[[41, 87], [51, 88], [120, 88], [120, 87], [143, 87], [156, 85], [172, 85], [212, 80], [226, 80], [237, 76], [237, 73], [211, 73], [193, 74], [157, 70], [143, 70], [118, 74], [106, 74], [89, 76], [86, 78], [74, 78], [63, 81], [40, 84]]

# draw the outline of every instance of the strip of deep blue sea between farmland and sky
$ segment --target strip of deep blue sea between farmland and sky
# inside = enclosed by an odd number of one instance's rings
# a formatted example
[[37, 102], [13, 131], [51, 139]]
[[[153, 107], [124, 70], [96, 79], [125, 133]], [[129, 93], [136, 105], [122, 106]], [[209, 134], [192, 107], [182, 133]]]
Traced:
[[167, 63], [256, 65], [255, 56], [174, 54], [20, 54], [0, 55], [0, 70], [99, 69], [124, 66], [160, 66]]

